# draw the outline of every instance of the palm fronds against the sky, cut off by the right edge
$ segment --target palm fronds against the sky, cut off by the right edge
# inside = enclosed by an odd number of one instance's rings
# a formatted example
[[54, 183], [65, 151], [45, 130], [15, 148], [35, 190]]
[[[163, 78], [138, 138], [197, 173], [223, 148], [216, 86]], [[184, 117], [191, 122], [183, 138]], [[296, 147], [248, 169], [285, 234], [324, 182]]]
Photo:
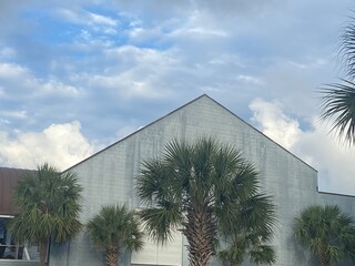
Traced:
[[355, 144], [355, 18], [345, 28], [341, 39], [341, 59], [344, 61], [345, 79], [321, 90], [322, 119], [334, 117], [332, 131], [339, 139]]

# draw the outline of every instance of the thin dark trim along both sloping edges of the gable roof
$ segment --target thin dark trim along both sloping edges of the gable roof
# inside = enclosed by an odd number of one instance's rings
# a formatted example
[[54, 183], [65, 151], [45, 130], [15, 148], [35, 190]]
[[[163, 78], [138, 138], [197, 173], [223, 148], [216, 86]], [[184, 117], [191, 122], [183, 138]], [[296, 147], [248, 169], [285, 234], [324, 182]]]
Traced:
[[[81, 163], [90, 160], [91, 157], [99, 155], [100, 153], [109, 150], [110, 147], [116, 145], [118, 143], [123, 142], [124, 140], [131, 137], [132, 135], [134, 135], [134, 134], [136, 134], [136, 133], [139, 133], [139, 132], [141, 132], [141, 131], [143, 131], [143, 130], [145, 130], [145, 129], [149, 127], [150, 125], [155, 124], [155, 123], [164, 120], [166, 116], [169, 116], [169, 115], [171, 115], [171, 114], [173, 114], [173, 113], [175, 113], [175, 112], [178, 112], [178, 111], [186, 108], [187, 105], [194, 104], [194, 103], [196, 103], [196, 102], [199, 102], [199, 101], [201, 101], [201, 100], [203, 100], [203, 99], [204, 99], [204, 100], [209, 100], [209, 101], [215, 103], [215, 104], [219, 105], [221, 109], [223, 109], [223, 110], [225, 110], [226, 112], [229, 112], [230, 114], [232, 114], [235, 119], [242, 121], [246, 126], [251, 127], [252, 130], [254, 130], [254, 131], [257, 132], [258, 134], [261, 134], [261, 135], [263, 135], [264, 137], [268, 139], [268, 140], [272, 141], [273, 143], [275, 143], [277, 146], [280, 146], [281, 149], [283, 149], [285, 152], [287, 152], [288, 154], [291, 154], [292, 156], [294, 156], [295, 158], [297, 158], [298, 161], [301, 161], [302, 163], [304, 163], [305, 165], [307, 165], [308, 167], [311, 167], [312, 170], [314, 170], [315, 172], [317, 172], [317, 170], [315, 170], [313, 166], [311, 166], [310, 164], [307, 164], [306, 162], [304, 162], [303, 160], [301, 160], [300, 157], [297, 157], [295, 154], [293, 154], [292, 152], [290, 152], [288, 150], [286, 150], [285, 147], [283, 147], [283, 146], [282, 146], [281, 144], [278, 144], [277, 142], [275, 142], [275, 141], [273, 141], [272, 139], [270, 139], [267, 135], [265, 135], [263, 132], [261, 132], [261, 131], [258, 131], [257, 129], [255, 129], [255, 127], [254, 127], [253, 125], [251, 125], [250, 123], [247, 123], [247, 122], [245, 122], [244, 120], [242, 120], [240, 116], [237, 116], [237, 115], [236, 115], [235, 113], [233, 113], [231, 110], [229, 110], [227, 108], [223, 106], [221, 103], [219, 103], [217, 101], [215, 101], [214, 99], [212, 99], [211, 96], [209, 96], [209, 95], [205, 94], [205, 93], [202, 94], [202, 95], [200, 95], [200, 96], [197, 96], [196, 99], [194, 99], [194, 100], [192, 100], [192, 101], [183, 104], [182, 106], [180, 106], [180, 108], [178, 108], [178, 109], [169, 112], [168, 114], [161, 116], [160, 119], [158, 119], [158, 120], [155, 120], [155, 121], [146, 124], [145, 126], [140, 127], [139, 130], [132, 132], [131, 134], [129, 134], [129, 135], [120, 139], [119, 141], [110, 144], [109, 146], [106, 146], [106, 147], [100, 150], [99, 152], [92, 154], [91, 156], [84, 158], [83, 161], [81, 161], [81, 162], [72, 165], [71, 167], [67, 168], [65, 171], [69, 171], [69, 170], [71, 170], [71, 168], [75, 167], [77, 165], [79, 165], [79, 164], [81, 164]], [[64, 171], [64, 172], [65, 172], [65, 171]]]

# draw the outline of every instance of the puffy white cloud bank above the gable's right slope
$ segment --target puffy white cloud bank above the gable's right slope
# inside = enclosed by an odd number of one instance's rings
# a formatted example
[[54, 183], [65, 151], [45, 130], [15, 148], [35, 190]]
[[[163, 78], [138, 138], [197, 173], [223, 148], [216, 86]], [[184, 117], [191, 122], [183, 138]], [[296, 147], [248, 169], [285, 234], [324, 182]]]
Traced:
[[314, 117], [303, 130], [277, 102], [256, 99], [250, 108], [258, 130], [318, 171], [321, 191], [355, 194], [355, 147], [342, 145], [328, 124]]

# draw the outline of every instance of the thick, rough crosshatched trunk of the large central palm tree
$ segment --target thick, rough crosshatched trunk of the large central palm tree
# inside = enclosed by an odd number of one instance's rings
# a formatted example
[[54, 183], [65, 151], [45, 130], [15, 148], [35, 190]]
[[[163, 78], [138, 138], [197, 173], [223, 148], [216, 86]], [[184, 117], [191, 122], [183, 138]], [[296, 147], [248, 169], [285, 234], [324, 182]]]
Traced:
[[187, 209], [184, 235], [189, 242], [190, 266], [209, 266], [214, 252], [216, 227], [207, 204]]

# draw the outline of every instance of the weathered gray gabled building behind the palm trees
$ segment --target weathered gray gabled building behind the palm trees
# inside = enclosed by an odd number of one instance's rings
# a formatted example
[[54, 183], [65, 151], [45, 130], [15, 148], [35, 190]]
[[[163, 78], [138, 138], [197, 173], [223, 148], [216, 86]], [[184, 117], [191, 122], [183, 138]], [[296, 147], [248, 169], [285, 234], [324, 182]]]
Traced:
[[[72, 166], [70, 171], [79, 175], [84, 188], [81, 221], [87, 223], [106, 204], [140, 207], [134, 177], [141, 162], [159, 155], [173, 139], [193, 141], [205, 135], [242, 151], [260, 171], [264, 190], [274, 196], [278, 214], [273, 242], [277, 253], [275, 265], [315, 265], [314, 258], [292, 239], [294, 216], [312, 204], [338, 204], [343, 211], [354, 214], [354, 197], [318, 192], [316, 170], [207, 95]], [[148, 239], [141, 253], [125, 254], [121, 265], [187, 265], [185, 239], [179, 233], [175, 235], [175, 241], [166, 247], [156, 246]], [[88, 235], [82, 233], [68, 245], [52, 247], [50, 265], [104, 265], [104, 259], [102, 253], [92, 248]]]

